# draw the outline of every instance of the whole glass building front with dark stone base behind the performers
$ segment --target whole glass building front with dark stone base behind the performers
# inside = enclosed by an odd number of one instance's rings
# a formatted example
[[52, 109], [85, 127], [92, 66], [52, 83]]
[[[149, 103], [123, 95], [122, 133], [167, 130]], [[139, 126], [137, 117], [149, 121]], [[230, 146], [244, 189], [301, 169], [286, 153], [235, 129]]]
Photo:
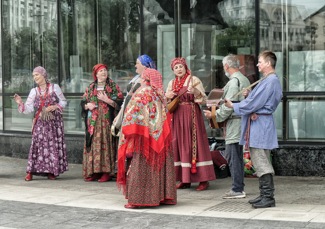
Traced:
[[[276, 174], [325, 176], [325, 0], [1, 0], [0, 21], [0, 155], [28, 156], [33, 114], [20, 115], [13, 95], [26, 101], [39, 65], [68, 100], [69, 162], [81, 163], [80, 98], [95, 64], [106, 64], [126, 94], [138, 55], [154, 60], [164, 89], [175, 77], [170, 61], [183, 56], [208, 94], [227, 84], [222, 59], [228, 53], [239, 57], [241, 73], [253, 83], [261, 76], [258, 53], [272, 50], [283, 89], [273, 114]], [[205, 125], [208, 137], [222, 143], [223, 131]]]

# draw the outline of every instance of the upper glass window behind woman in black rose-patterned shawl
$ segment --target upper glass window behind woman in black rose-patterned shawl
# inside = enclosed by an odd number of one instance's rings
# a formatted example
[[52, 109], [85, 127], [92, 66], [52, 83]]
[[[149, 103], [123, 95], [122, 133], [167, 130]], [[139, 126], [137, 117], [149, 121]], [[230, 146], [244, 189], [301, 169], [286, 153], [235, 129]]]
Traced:
[[93, 66], [103, 63], [126, 93], [140, 54], [139, 2], [77, 3], [60, 1], [62, 91], [84, 92], [93, 82]]

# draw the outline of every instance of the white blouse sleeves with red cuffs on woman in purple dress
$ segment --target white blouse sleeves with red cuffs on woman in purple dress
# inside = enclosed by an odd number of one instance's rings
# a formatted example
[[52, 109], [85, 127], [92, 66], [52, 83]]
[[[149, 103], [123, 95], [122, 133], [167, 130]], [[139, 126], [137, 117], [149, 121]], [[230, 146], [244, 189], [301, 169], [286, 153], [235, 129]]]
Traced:
[[[44, 92], [45, 93], [45, 92]], [[51, 93], [55, 93], [58, 98], [59, 98], [59, 103], [57, 103], [56, 105], [58, 106], [58, 112], [60, 114], [62, 114], [63, 112], [63, 108], [67, 105], [67, 100], [64, 98], [64, 95], [61, 91], [61, 88], [59, 87], [59, 85], [57, 84], [50, 84], [49, 87], [49, 94]], [[27, 101], [20, 105], [18, 105], [18, 110], [20, 113], [24, 113], [24, 114], [30, 114], [34, 111], [34, 101], [36, 96], [40, 96], [39, 91], [36, 88], [33, 88], [31, 90], [31, 92], [29, 93], [29, 96], [27, 98]]]

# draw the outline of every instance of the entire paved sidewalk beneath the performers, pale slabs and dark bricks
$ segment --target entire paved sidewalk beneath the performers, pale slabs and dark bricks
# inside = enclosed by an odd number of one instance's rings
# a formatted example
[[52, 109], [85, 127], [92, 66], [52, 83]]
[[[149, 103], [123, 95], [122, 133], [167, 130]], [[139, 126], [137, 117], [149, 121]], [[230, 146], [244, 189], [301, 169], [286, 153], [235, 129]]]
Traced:
[[[275, 208], [254, 209], [258, 180], [245, 178], [246, 198], [220, 196], [231, 178], [210, 188], [177, 190], [177, 205], [125, 209], [123, 193], [111, 182], [85, 182], [82, 165], [69, 164], [57, 180], [34, 176], [26, 182], [26, 159], [0, 156], [0, 229], [10, 228], [325, 228], [325, 179], [275, 176]], [[313, 196], [307, 195], [313, 193]]]

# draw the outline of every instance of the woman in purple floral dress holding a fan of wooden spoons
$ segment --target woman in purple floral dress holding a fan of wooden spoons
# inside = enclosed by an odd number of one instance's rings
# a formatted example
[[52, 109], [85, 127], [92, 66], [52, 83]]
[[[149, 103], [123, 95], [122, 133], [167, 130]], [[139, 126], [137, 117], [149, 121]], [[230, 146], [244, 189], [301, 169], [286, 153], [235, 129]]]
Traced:
[[24, 103], [19, 95], [14, 96], [20, 113], [32, 113], [34, 108], [41, 110], [36, 113], [38, 115], [32, 130], [25, 180], [31, 181], [33, 175], [55, 180], [60, 173], [68, 171], [62, 118], [67, 101], [59, 85], [50, 84], [43, 67], [36, 67], [33, 77], [38, 86], [31, 90], [27, 101]]

